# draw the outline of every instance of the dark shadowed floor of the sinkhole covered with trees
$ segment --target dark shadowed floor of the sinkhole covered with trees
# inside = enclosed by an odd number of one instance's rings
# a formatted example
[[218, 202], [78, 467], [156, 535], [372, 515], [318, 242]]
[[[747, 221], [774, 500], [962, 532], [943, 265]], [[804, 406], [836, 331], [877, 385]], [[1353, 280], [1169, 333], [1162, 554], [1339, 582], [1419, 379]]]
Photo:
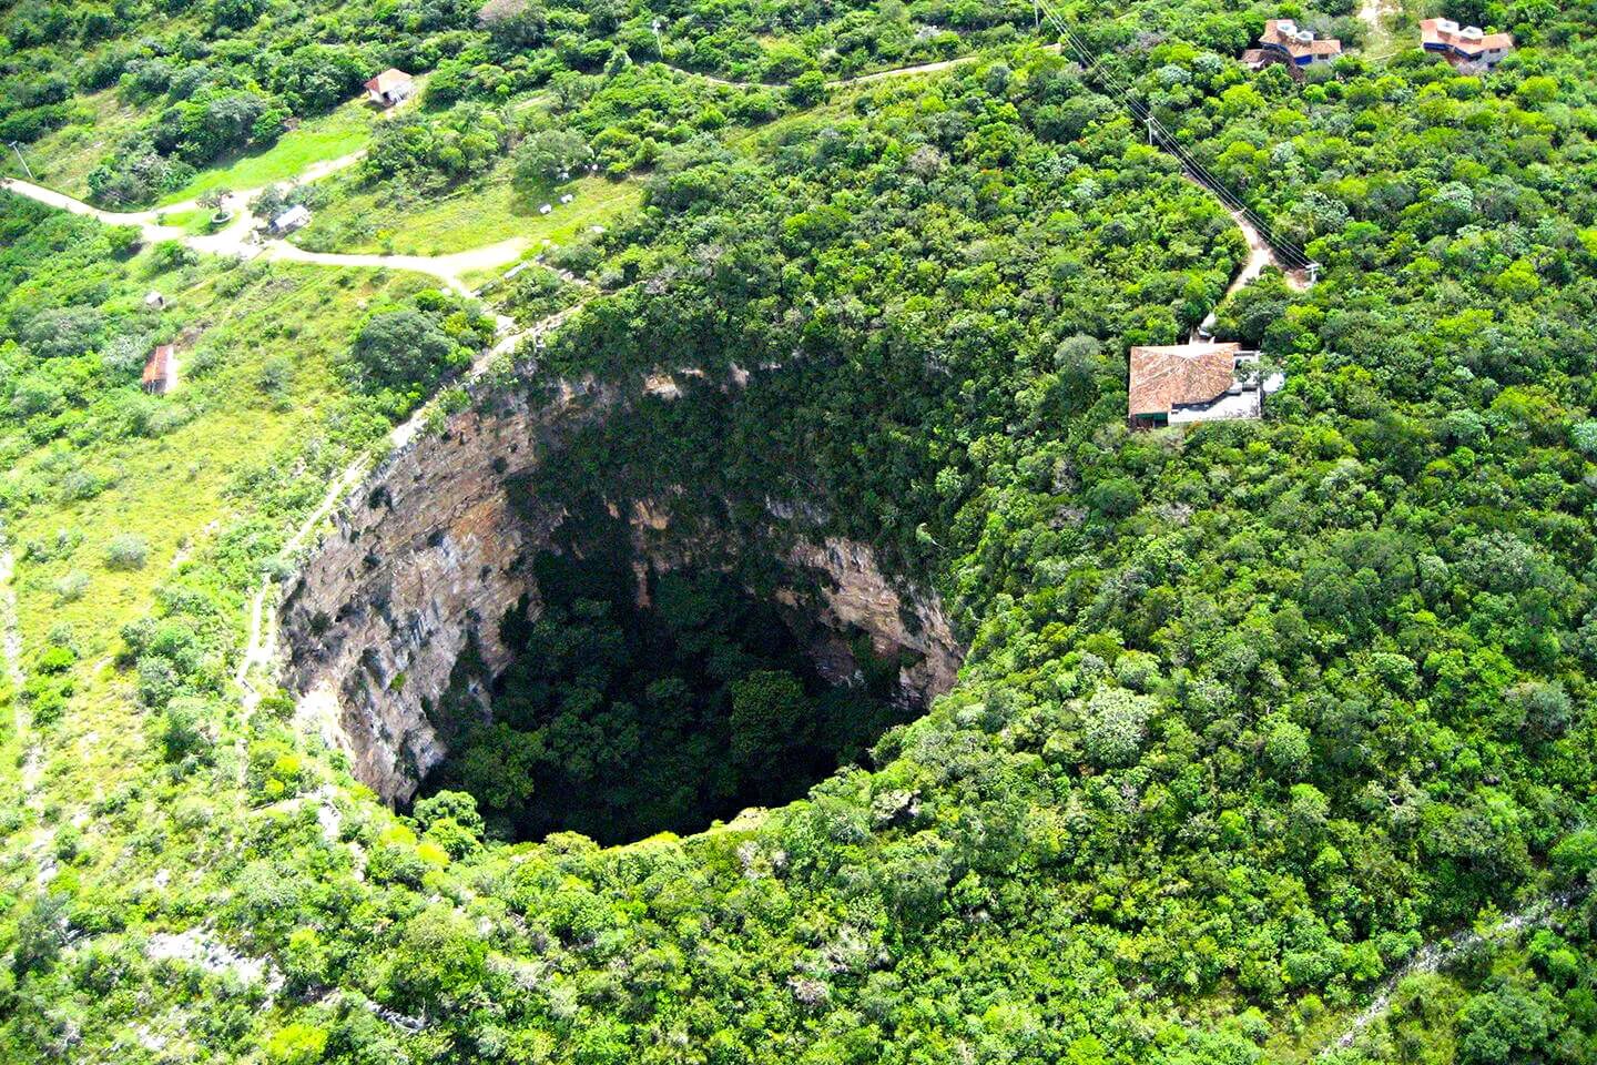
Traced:
[[696, 832], [802, 797], [920, 712], [894, 698], [896, 656], [751, 592], [746, 573], [634, 565], [621, 521], [562, 540], [530, 559], [541, 610], [524, 599], [501, 621], [514, 661], [487, 706], [463, 661], [434, 712], [449, 755], [418, 797], [471, 794], [492, 835]]

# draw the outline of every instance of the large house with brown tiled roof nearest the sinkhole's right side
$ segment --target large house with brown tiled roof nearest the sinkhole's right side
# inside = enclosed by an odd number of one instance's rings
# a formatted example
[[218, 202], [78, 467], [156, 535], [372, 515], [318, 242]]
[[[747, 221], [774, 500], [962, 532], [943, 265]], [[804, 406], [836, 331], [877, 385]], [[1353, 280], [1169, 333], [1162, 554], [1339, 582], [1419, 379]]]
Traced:
[[1183, 343], [1131, 350], [1126, 418], [1150, 430], [1191, 422], [1263, 417], [1263, 394], [1274, 391], [1258, 380], [1258, 353], [1242, 345]]

